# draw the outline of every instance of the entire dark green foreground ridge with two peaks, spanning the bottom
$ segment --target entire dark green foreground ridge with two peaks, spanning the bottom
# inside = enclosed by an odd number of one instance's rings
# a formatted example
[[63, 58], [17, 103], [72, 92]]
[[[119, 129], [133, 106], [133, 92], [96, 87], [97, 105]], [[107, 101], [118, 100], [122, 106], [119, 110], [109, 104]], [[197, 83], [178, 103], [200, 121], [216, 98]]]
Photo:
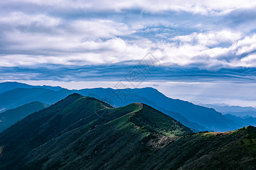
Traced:
[[255, 136], [195, 134], [146, 104], [73, 94], [0, 134], [0, 169], [253, 169]]

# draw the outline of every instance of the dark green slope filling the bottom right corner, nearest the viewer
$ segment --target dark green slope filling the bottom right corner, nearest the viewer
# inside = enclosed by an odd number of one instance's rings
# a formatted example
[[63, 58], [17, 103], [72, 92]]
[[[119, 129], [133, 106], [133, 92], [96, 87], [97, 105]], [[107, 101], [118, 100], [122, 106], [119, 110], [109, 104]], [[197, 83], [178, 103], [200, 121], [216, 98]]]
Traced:
[[[256, 128], [185, 135], [158, 150], [143, 169], [255, 169]], [[154, 163], [152, 163], [154, 160]]]

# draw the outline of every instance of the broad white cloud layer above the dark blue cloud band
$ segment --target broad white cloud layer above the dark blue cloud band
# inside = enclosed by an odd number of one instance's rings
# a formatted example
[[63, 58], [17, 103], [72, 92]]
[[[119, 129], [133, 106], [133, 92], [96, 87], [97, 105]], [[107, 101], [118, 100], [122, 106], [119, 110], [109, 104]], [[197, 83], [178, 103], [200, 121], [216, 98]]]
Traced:
[[[158, 57], [163, 65], [184, 66], [198, 63], [206, 68], [235, 67], [251, 66], [249, 61], [254, 61], [250, 57], [242, 61], [241, 54], [247, 55], [256, 50], [256, 35], [249, 33], [249, 36], [245, 37], [246, 33], [242, 31], [213, 27], [203, 32], [191, 33], [189, 29], [195, 29], [193, 21], [180, 24], [172, 22], [175, 17], [169, 20], [161, 16], [159, 16], [161, 21], [158, 21], [158, 18], [137, 20], [135, 18], [137, 16], [131, 17], [122, 11], [140, 9], [143, 13], [174, 10], [213, 14], [241, 7], [253, 8], [254, 3], [251, 1], [225, 1], [218, 5], [217, 2], [212, 1], [155, 3], [155, 1], [38, 0], [0, 2], [0, 6], [11, 3], [29, 3], [69, 11], [76, 8], [85, 10], [87, 13], [85, 12], [84, 15], [89, 13], [88, 10], [115, 10], [114, 13], [119, 12], [121, 18], [99, 15], [91, 18], [79, 16], [67, 19], [61, 18], [58, 13], [51, 15], [51, 12], [40, 10], [36, 14], [22, 10], [14, 10], [6, 14], [0, 12], [1, 66], [32, 66], [42, 63], [60, 65], [118, 63], [141, 59], [148, 51]], [[129, 20], [129, 17], [134, 22], [128, 23], [126, 19]], [[189, 24], [191, 25], [189, 28], [184, 26]], [[204, 27], [204, 22], [198, 23], [196, 27]], [[175, 31], [181, 32], [183, 36], [175, 36]], [[187, 35], [184, 35], [186, 31]], [[140, 33], [145, 36], [141, 36]], [[150, 34], [154, 35], [154, 38], [151, 39]], [[170, 35], [172, 38], [169, 38]], [[232, 45], [228, 46], [225, 43]]]

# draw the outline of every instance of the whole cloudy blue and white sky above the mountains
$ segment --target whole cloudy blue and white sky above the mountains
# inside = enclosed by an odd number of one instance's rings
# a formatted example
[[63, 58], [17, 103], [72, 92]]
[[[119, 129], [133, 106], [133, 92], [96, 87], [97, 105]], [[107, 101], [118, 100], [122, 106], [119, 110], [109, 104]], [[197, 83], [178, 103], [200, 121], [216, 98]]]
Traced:
[[[146, 79], [136, 87], [195, 102], [198, 93], [184, 94], [191, 87], [178, 83], [182, 92], [174, 94], [164, 82], [200, 84], [200, 93], [207, 83], [228, 83], [240, 89], [236, 100], [245, 99], [235, 103], [229, 92], [226, 103], [253, 105], [245, 94], [256, 87], [255, 16], [249, 0], [0, 1], [0, 81], [114, 87], [137, 66]], [[140, 65], [148, 52], [156, 61], [150, 71]], [[226, 88], [218, 88], [223, 95]]]

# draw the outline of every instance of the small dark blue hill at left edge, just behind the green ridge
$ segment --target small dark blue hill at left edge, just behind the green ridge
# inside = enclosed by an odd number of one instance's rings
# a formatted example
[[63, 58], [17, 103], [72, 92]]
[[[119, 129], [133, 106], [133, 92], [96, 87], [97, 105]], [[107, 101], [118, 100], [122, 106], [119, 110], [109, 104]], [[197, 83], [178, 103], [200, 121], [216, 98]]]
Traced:
[[28, 116], [28, 114], [40, 111], [47, 107], [49, 107], [48, 104], [41, 103], [40, 101], [34, 101], [24, 104], [16, 109], [10, 109], [6, 112], [0, 113], [0, 133], [23, 117]]

